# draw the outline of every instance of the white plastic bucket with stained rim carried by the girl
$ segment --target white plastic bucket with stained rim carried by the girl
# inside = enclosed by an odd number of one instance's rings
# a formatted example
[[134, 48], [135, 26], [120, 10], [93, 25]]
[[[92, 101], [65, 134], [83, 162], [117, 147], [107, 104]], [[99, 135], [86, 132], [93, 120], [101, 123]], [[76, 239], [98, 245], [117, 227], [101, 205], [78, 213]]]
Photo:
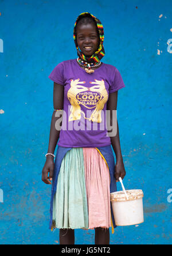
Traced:
[[136, 225], [144, 222], [142, 190], [111, 193], [111, 204], [117, 226]]

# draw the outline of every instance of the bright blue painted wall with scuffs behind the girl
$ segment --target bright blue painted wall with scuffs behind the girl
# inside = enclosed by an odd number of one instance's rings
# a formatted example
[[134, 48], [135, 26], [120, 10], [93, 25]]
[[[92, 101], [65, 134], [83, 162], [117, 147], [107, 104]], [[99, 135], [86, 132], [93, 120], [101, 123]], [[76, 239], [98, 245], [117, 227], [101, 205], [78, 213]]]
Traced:
[[[170, 244], [170, 0], [0, 1], [0, 243], [59, 244], [58, 230], [48, 229], [50, 186], [41, 181], [53, 111], [48, 75], [77, 58], [73, 26], [82, 12], [101, 20], [102, 61], [126, 84], [118, 96], [124, 185], [144, 191], [145, 222], [118, 227], [111, 244]], [[76, 230], [76, 244], [93, 243], [94, 231]]]

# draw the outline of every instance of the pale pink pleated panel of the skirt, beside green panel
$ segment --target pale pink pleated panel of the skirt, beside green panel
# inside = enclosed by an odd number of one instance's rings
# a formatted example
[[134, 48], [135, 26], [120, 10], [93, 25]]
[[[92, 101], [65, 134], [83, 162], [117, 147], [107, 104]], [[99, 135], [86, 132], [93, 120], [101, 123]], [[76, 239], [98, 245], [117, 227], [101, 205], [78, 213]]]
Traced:
[[96, 148], [83, 148], [89, 229], [111, 227], [110, 173]]

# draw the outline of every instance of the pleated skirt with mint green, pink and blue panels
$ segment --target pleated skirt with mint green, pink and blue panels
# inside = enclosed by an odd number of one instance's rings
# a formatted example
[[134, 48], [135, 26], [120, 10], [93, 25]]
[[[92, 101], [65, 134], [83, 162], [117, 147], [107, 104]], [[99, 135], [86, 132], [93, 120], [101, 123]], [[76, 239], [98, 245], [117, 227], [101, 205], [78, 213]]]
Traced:
[[[58, 146], [54, 164], [50, 207], [51, 228], [110, 228], [114, 232], [110, 193], [115, 172], [111, 146], [101, 148], [62, 148]], [[68, 149], [68, 150], [67, 150]], [[107, 155], [102, 150], [108, 154]], [[107, 150], [108, 149], [108, 150]], [[101, 150], [101, 151], [100, 151]], [[105, 159], [107, 157], [108, 161]], [[112, 160], [111, 157], [113, 157]], [[115, 180], [113, 180], [115, 181]], [[114, 192], [113, 191], [113, 192]]]

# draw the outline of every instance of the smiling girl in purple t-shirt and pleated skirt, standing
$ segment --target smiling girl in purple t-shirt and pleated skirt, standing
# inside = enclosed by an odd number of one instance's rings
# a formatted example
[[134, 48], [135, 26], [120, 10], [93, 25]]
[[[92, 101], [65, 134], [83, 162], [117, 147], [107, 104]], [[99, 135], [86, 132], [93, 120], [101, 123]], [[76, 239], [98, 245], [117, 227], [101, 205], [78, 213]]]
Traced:
[[114, 123], [118, 90], [125, 85], [115, 66], [100, 62], [105, 51], [98, 18], [81, 13], [73, 39], [78, 58], [62, 61], [49, 76], [54, 111], [42, 170], [43, 182], [53, 180], [49, 227], [60, 229], [60, 244], [75, 244], [76, 228], [95, 229], [95, 244], [110, 244], [109, 228], [113, 234], [116, 227], [110, 193], [126, 175]]

